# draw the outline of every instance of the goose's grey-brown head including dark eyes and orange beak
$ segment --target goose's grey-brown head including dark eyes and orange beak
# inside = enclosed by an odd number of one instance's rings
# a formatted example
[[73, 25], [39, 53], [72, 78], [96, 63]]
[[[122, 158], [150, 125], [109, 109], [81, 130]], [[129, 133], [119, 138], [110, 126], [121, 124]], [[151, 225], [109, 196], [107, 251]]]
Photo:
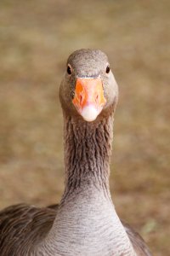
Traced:
[[99, 49], [79, 49], [66, 63], [59, 89], [62, 108], [92, 122], [116, 108], [118, 88], [107, 56]]

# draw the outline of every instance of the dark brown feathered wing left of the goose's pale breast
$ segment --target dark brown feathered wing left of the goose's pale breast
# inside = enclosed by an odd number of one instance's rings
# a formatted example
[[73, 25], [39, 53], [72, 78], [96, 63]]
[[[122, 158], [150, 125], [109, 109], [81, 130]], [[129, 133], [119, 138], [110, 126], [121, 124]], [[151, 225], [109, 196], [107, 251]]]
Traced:
[[21, 256], [47, 234], [56, 212], [26, 204], [5, 208], [0, 212], [0, 254]]

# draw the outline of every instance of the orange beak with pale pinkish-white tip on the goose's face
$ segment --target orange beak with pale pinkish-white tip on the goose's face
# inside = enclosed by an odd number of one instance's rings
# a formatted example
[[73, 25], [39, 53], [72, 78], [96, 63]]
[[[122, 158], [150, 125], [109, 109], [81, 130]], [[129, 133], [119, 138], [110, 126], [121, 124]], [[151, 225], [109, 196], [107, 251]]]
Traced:
[[94, 121], [106, 102], [101, 79], [77, 79], [72, 102], [83, 119]]

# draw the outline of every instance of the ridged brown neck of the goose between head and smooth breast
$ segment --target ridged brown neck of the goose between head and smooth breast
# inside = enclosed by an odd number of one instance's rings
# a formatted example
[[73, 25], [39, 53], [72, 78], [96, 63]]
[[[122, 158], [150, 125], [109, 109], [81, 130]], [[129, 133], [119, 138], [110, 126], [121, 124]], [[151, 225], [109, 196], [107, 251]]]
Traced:
[[65, 115], [65, 193], [95, 186], [109, 192], [112, 114], [88, 123]]

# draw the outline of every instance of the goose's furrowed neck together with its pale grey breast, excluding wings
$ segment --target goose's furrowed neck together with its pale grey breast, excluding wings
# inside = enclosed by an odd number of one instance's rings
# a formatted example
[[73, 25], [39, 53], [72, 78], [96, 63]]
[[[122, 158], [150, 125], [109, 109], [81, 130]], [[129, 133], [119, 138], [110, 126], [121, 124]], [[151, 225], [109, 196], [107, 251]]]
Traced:
[[64, 119], [65, 192], [36, 255], [135, 255], [109, 189], [112, 113], [93, 123]]

